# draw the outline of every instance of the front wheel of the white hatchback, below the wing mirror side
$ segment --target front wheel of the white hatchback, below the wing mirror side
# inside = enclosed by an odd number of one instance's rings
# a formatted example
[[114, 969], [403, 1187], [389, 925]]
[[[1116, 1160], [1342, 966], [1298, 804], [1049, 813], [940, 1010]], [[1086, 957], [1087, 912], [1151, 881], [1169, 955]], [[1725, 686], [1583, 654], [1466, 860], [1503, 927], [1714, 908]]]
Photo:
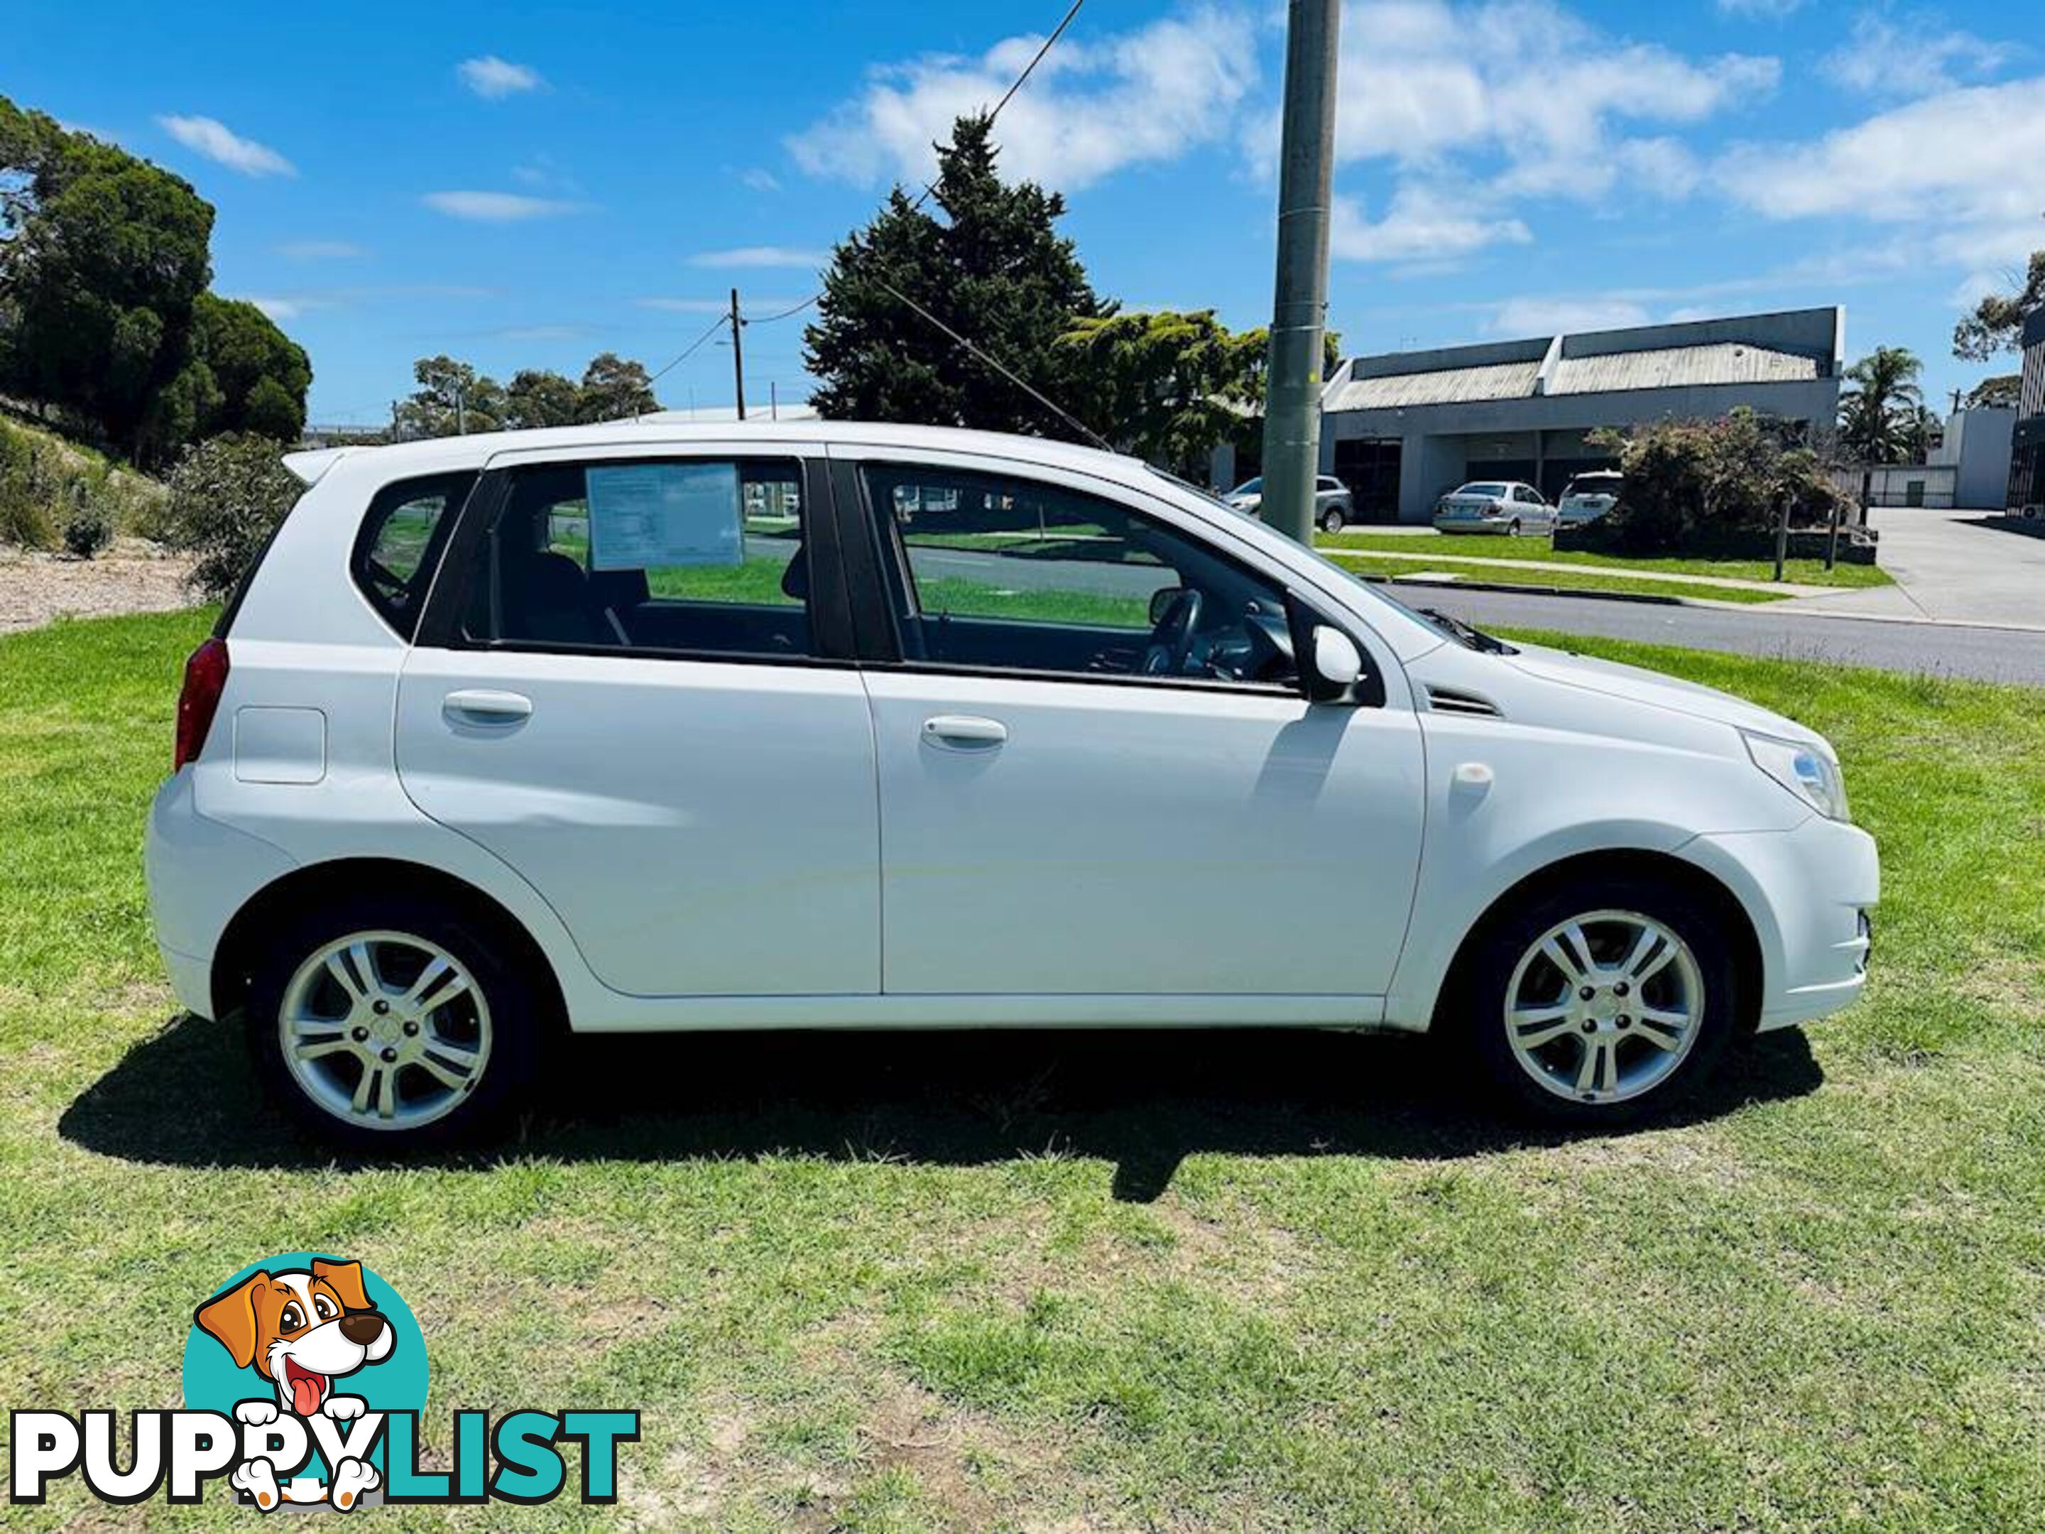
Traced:
[[1513, 1115], [1599, 1127], [1693, 1092], [1726, 1051], [1742, 996], [1720, 912], [1658, 879], [1581, 875], [1489, 920], [1444, 1004], [1438, 1027], [1456, 1057], [1474, 1057]]

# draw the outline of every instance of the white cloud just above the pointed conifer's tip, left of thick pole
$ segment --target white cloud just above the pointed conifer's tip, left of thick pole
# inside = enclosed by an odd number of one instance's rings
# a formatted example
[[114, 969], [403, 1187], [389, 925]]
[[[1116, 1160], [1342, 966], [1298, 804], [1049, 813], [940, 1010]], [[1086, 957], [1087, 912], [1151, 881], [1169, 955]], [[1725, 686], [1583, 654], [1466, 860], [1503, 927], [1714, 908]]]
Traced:
[[[812, 176], [922, 182], [935, 170], [930, 143], [949, 139], [955, 119], [1000, 102], [1041, 43], [1010, 37], [978, 57], [879, 67], [787, 147]], [[1067, 35], [1002, 110], [1002, 172], [1074, 190], [1125, 166], [1174, 160], [1225, 139], [1256, 82], [1258, 27], [1243, 10], [1200, 6], [1100, 41]]]

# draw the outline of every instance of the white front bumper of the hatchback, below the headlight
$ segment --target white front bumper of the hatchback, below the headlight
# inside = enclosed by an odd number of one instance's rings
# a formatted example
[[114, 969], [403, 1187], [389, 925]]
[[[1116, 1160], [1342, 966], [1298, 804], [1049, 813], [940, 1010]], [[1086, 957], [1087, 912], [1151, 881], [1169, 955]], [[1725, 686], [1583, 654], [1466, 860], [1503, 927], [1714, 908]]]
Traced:
[[1881, 898], [1873, 837], [1812, 816], [1793, 830], [1697, 837], [1683, 853], [1716, 873], [1755, 922], [1761, 1031], [1810, 1023], [1859, 998]]

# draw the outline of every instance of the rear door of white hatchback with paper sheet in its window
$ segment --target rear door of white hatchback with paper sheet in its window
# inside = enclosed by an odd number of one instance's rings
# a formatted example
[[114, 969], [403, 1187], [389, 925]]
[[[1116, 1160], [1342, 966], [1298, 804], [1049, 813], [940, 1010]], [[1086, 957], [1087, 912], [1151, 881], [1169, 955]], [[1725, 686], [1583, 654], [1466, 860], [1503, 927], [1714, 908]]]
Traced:
[[834, 565], [808, 579], [834, 548], [820, 468], [693, 446], [491, 468], [399, 683], [405, 792], [614, 990], [877, 992], [873, 732], [843, 597], [810, 599], [843, 593]]

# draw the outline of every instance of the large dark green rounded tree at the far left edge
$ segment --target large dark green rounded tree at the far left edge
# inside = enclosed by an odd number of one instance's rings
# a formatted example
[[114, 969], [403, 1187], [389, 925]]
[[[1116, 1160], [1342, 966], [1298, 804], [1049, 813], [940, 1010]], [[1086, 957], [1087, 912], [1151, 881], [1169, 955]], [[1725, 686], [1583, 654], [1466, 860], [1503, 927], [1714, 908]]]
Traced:
[[213, 207], [184, 180], [0, 98], [0, 385], [137, 458], [207, 397], [190, 362]]

